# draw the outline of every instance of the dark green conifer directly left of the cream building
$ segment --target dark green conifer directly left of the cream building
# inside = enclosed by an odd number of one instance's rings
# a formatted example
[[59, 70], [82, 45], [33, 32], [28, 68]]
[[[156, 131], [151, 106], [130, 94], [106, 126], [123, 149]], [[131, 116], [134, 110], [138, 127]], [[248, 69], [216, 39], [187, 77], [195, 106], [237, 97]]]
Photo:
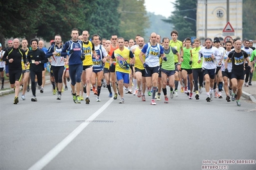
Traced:
[[[176, 0], [173, 3], [175, 6], [175, 11], [172, 12], [173, 15], [164, 19], [164, 22], [173, 24], [173, 29], [178, 31], [178, 39], [184, 40], [187, 37], [196, 36], [196, 4], [197, 1], [194, 0]], [[191, 19], [184, 19], [187, 16]]]

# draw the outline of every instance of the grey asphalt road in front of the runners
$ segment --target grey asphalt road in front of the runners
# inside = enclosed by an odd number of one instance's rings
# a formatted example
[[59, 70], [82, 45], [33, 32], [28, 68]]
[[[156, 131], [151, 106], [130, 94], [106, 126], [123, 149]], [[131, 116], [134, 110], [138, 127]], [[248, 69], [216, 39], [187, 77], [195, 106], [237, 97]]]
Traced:
[[101, 102], [91, 94], [86, 105], [74, 104], [70, 88], [62, 100], [50, 85], [44, 91], [37, 89], [38, 102], [30, 91], [17, 105], [13, 94], [0, 97], [0, 169], [203, 169], [212, 160], [256, 169], [256, 105], [248, 100], [237, 107], [206, 102], [205, 92], [200, 100], [179, 93], [150, 105], [148, 96], [127, 94], [118, 104], [103, 88]]

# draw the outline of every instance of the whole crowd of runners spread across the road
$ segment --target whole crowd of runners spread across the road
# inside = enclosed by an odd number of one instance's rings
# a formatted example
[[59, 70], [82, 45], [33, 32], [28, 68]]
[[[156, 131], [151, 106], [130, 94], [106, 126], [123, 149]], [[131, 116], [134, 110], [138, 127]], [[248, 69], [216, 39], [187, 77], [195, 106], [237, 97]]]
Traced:
[[[89, 31], [79, 35], [78, 29], [73, 29], [71, 40], [62, 45], [61, 36], [56, 35], [55, 43], [47, 50], [43, 49], [42, 42], [37, 39], [30, 41], [31, 50], [28, 49], [28, 41], [22, 40], [20, 49], [17, 38], [5, 52], [0, 49], [1, 59], [9, 65], [11, 88], [15, 88], [13, 104], [19, 102], [20, 82], [23, 84], [22, 100], [25, 100], [29, 77], [33, 94], [31, 101], [37, 102], [36, 86], [38, 84], [40, 87], [40, 93], [44, 92], [42, 77], [46, 70], [44, 63], [48, 61], [51, 63], [53, 92], [56, 89], [58, 91], [56, 99], [61, 100], [63, 82], [67, 89], [65, 79], [70, 76], [73, 101], [76, 104], [84, 100], [83, 93], [86, 94], [85, 103], [90, 104], [91, 89], [97, 96], [96, 101], [101, 101], [99, 96], [102, 82], [106, 82], [108, 97], [113, 97], [112, 89], [114, 100], [120, 95], [119, 104], [124, 104], [124, 90], [132, 93], [132, 84], [133, 95], [141, 97], [142, 101], [146, 101], [145, 93], [148, 89], [151, 105], [156, 105], [156, 100], [160, 100], [161, 90], [164, 103], [169, 102], [167, 86], [170, 88], [169, 97], [178, 97], [179, 83], [182, 85], [182, 93], [192, 99], [194, 91], [196, 100], [199, 100], [204, 86], [206, 101], [210, 102], [214, 97], [222, 98], [224, 82], [226, 101], [230, 102], [231, 97], [240, 106], [243, 84], [251, 85], [247, 84], [249, 78], [244, 83], [244, 74], [252, 76], [255, 50], [247, 47], [247, 41], [243, 49], [241, 40], [226, 42], [224, 49], [219, 38], [214, 38], [214, 41], [206, 38], [204, 45], [200, 45], [198, 38], [193, 43], [191, 38], [182, 42], [178, 40], [178, 31], [171, 31], [171, 40], [164, 37], [162, 42], [157, 33], [151, 33], [148, 42], [140, 35], [135, 37], [135, 41], [124, 40], [117, 35], [112, 35], [110, 40], [101, 39], [99, 35], [92, 35], [91, 40], [89, 37]], [[3, 61], [0, 61], [0, 65]], [[1, 77], [3, 81], [2, 74]]]

